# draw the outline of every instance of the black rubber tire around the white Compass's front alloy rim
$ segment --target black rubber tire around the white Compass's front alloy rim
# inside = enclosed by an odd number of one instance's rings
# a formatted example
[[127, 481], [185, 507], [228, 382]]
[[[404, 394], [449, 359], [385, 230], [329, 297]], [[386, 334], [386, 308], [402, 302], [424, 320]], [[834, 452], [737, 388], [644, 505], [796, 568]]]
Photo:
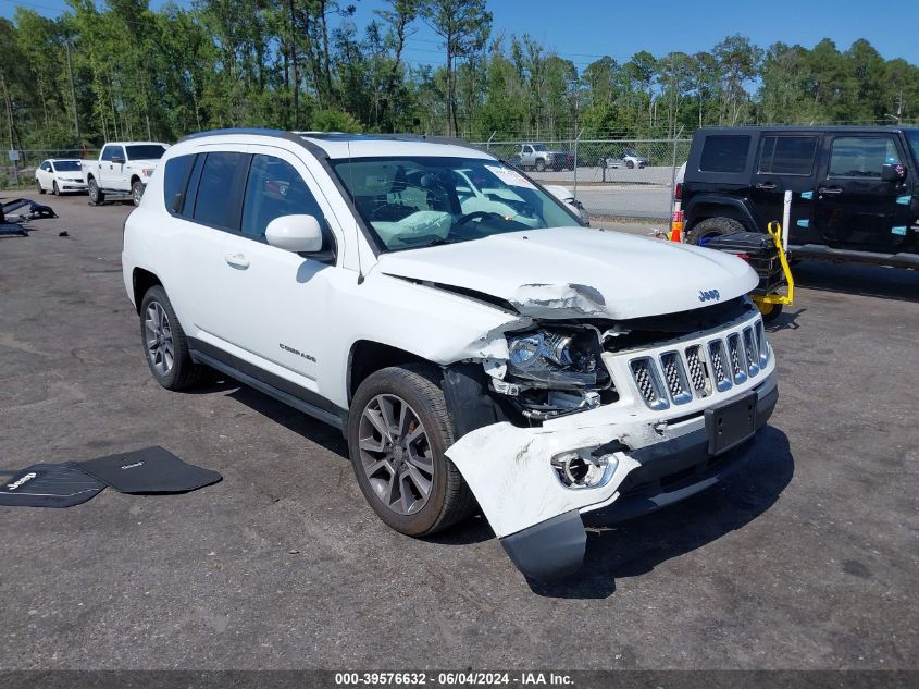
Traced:
[[[433, 457], [431, 490], [423, 506], [413, 514], [399, 514], [377, 495], [364, 470], [361, 419], [364, 410], [380, 395], [390, 395], [408, 403], [423, 427]], [[454, 443], [454, 430], [439, 376], [432, 366], [410, 364], [376, 371], [358, 387], [348, 417], [348, 448], [361, 492], [376, 515], [392, 529], [406, 536], [430, 536], [465, 519], [475, 508], [475, 499], [459, 470], [445, 452]], [[378, 453], [376, 456], [382, 456]], [[368, 462], [376, 457], [368, 455]], [[401, 454], [400, 459], [401, 460]], [[395, 460], [394, 460], [394, 464]], [[398, 468], [398, 464], [396, 464]], [[387, 469], [388, 471], [388, 469]], [[392, 476], [392, 473], [390, 473]]]

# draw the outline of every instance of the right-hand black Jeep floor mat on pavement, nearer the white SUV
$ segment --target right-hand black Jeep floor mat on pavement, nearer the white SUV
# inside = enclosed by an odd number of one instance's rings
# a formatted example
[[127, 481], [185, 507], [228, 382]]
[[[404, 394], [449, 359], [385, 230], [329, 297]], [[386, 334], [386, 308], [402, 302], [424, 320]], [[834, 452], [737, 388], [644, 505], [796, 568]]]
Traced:
[[185, 493], [216, 483], [216, 471], [185, 464], [162, 447], [145, 447], [78, 463], [121, 493]]

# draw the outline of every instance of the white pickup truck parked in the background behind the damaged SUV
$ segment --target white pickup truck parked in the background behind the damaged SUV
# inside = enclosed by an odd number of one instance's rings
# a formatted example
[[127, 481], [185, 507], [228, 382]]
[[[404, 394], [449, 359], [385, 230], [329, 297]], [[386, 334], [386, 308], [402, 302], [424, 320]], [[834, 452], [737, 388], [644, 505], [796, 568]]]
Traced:
[[107, 196], [131, 196], [140, 204], [147, 182], [169, 144], [160, 142], [109, 142], [98, 160], [82, 161], [89, 202], [99, 206]]

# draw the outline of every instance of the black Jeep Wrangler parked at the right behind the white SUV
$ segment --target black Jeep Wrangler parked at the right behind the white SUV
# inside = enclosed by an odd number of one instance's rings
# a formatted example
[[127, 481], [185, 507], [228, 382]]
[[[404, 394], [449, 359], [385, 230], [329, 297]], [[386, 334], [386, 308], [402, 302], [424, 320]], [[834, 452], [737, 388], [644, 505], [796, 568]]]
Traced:
[[919, 127], [711, 127], [693, 137], [686, 241], [766, 232], [792, 193], [793, 258], [919, 268]]

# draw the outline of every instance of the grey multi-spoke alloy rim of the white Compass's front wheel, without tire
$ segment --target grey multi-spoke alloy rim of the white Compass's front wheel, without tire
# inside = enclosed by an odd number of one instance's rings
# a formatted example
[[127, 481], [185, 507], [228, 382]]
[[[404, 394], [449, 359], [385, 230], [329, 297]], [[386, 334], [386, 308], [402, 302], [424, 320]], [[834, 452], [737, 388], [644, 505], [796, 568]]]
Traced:
[[399, 515], [418, 513], [434, 488], [434, 452], [418, 414], [401, 397], [382, 394], [359, 425], [361, 466], [373, 492]]

